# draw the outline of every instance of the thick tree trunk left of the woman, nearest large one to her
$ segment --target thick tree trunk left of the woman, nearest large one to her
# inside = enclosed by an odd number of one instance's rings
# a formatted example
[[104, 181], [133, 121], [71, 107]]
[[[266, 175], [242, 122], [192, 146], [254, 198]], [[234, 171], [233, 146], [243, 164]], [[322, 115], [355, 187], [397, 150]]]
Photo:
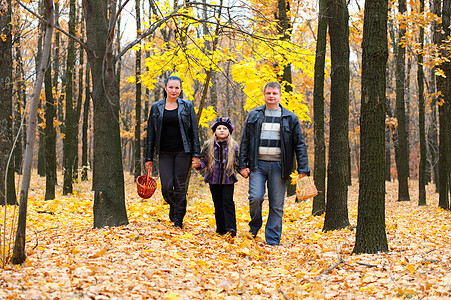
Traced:
[[[114, 71], [111, 34], [116, 1], [109, 7], [97, 0], [83, 1], [86, 10], [88, 62], [94, 103], [94, 227], [128, 224], [119, 130], [119, 86]], [[109, 8], [109, 12], [107, 9]], [[99, 18], [99, 16], [109, 16]]]

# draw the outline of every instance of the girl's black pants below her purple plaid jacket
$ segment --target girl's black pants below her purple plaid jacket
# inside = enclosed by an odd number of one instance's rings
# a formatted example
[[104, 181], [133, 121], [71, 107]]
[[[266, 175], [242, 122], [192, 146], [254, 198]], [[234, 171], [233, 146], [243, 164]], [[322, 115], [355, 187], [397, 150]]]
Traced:
[[236, 234], [234, 184], [210, 184], [211, 196], [215, 205], [216, 232]]

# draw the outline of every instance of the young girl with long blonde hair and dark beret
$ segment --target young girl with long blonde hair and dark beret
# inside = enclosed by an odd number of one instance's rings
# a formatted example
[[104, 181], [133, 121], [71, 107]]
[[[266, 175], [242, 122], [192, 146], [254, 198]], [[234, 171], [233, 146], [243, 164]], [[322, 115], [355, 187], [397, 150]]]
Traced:
[[234, 184], [238, 169], [238, 144], [232, 138], [233, 124], [229, 118], [217, 118], [211, 127], [213, 135], [202, 147], [200, 167], [207, 169], [204, 181], [210, 184], [215, 205], [216, 232], [236, 236]]

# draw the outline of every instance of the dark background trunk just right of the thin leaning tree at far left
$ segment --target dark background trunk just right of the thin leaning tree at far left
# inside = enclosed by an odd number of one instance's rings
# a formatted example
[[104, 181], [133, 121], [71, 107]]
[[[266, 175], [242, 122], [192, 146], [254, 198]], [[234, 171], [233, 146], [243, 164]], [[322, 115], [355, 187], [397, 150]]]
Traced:
[[56, 175], [56, 117], [55, 100], [52, 91], [52, 68], [48, 66], [45, 84], [45, 200], [55, 199]]

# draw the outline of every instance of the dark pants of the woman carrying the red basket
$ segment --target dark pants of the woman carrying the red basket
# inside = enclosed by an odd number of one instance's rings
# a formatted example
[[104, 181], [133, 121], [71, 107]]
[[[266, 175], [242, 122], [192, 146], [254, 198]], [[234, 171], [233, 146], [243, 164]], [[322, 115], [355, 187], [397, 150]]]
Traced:
[[160, 153], [161, 193], [170, 206], [169, 218], [178, 227], [182, 227], [186, 214], [186, 177], [190, 166], [191, 153]]

